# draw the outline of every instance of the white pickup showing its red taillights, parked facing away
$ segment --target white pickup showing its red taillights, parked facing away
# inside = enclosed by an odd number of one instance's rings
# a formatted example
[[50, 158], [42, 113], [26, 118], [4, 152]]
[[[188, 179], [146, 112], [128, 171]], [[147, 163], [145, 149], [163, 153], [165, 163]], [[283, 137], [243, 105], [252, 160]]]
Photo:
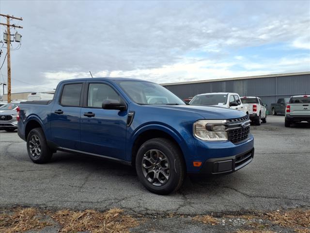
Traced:
[[244, 96], [241, 97], [241, 102], [246, 103], [249, 106], [248, 113], [250, 120], [256, 125], [261, 125], [261, 122], [267, 122], [266, 107], [267, 104], [263, 104], [263, 101], [259, 97]]

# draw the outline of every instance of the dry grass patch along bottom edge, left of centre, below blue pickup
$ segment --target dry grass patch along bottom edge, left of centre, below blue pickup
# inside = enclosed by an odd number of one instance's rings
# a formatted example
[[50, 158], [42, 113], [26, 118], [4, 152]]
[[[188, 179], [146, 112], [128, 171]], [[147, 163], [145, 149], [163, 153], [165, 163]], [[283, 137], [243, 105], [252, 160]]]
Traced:
[[139, 225], [131, 216], [124, 215], [121, 209], [111, 209], [106, 212], [95, 210], [70, 211], [61, 210], [51, 217], [62, 226], [60, 232], [89, 231], [92, 233], [126, 233], [129, 228]]

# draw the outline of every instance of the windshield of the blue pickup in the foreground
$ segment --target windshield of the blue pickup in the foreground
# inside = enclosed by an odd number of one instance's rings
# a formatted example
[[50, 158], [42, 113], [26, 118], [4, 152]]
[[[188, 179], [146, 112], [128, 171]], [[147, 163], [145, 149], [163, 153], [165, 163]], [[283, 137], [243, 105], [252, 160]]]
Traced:
[[119, 81], [117, 82], [131, 100], [138, 104], [185, 104], [165, 87], [148, 82]]

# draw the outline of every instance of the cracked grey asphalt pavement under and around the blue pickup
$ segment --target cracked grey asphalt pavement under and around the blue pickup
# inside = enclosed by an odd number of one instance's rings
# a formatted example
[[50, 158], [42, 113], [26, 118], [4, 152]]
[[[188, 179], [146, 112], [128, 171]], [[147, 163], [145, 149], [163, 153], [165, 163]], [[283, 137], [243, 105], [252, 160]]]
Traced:
[[241, 170], [187, 177], [168, 196], [148, 192], [135, 170], [87, 155], [57, 152], [31, 162], [17, 133], [0, 132], [0, 206], [107, 210], [142, 215], [201, 215], [310, 207], [310, 124], [284, 127], [284, 116], [251, 126], [254, 160]]

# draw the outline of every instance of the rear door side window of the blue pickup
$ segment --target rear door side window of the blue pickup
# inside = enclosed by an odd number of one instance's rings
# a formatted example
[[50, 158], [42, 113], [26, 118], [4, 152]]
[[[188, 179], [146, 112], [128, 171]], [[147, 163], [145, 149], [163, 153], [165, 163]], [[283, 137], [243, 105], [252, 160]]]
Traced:
[[73, 106], [77, 107], [80, 105], [79, 100], [81, 97], [83, 83], [73, 83], [63, 85], [62, 89], [62, 106]]

